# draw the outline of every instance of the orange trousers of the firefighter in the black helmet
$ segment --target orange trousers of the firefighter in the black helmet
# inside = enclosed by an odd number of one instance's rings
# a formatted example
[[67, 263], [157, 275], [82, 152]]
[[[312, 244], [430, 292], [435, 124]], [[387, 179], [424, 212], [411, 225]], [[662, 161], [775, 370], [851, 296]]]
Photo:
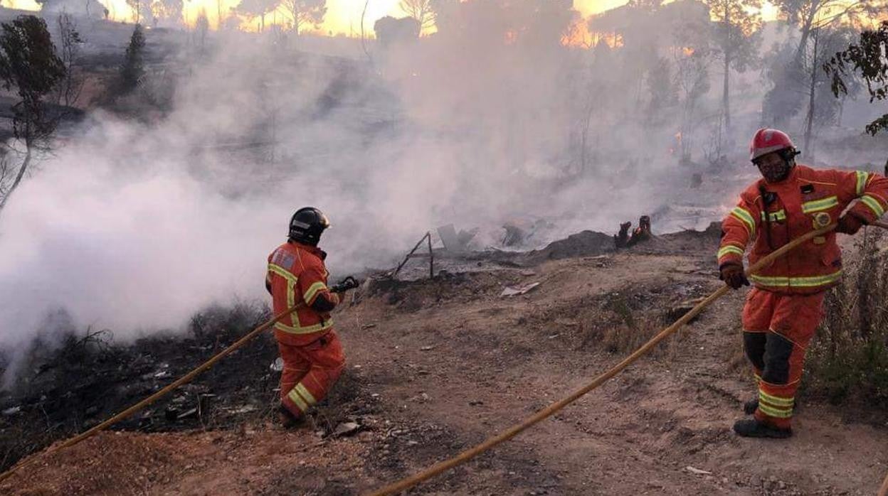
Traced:
[[345, 354], [336, 332], [303, 346], [278, 342], [283, 360], [281, 405], [299, 417], [325, 396], [345, 366]]

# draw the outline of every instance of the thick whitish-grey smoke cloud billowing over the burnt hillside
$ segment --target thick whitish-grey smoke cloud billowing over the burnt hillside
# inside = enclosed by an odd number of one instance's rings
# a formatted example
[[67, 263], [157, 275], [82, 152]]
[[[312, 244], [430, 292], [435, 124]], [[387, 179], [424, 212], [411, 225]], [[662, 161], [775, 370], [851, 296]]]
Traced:
[[484, 248], [516, 220], [544, 220], [543, 243], [681, 202], [716, 214], [655, 228], [718, 216], [724, 184], [687, 194], [676, 122], [627, 110], [642, 107], [621, 79], [634, 69], [560, 45], [574, 13], [459, 5], [422, 43], [371, 43], [372, 62], [357, 41], [214, 34], [153, 76], [175, 82], [162, 118], [90, 114], [0, 215], [0, 348], [59, 308], [125, 340], [266, 298], [265, 257], [305, 205], [334, 224], [334, 277], [391, 267], [442, 224], [480, 228]]

